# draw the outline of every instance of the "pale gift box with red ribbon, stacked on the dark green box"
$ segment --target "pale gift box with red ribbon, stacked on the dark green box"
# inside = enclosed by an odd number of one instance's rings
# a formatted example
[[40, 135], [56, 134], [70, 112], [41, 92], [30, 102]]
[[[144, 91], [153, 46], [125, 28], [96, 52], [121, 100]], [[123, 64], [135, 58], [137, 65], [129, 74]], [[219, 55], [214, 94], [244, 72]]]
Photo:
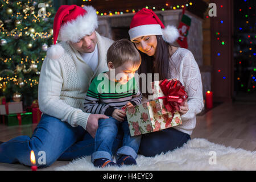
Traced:
[[0, 115], [16, 114], [16, 113], [22, 113], [22, 112], [23, 112], [22, 101], [7, 102], [6, 104], [0, 105]]

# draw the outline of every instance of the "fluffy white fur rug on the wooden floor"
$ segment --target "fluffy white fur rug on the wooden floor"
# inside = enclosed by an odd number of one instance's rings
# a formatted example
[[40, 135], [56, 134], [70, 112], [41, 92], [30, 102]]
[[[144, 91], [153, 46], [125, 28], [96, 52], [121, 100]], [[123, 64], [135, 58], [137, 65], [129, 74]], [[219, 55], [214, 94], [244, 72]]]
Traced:
[[61, 171], [169, 171], [169, 170], [256, 170], [256, 151], [225, 147], [206, 139], [189, 140], [183, 147], [166, 154], [146, 158], [139, 155], [137, 166], [96, 168], [90, 156], [74, 160], [66, 166], [57, 167]]

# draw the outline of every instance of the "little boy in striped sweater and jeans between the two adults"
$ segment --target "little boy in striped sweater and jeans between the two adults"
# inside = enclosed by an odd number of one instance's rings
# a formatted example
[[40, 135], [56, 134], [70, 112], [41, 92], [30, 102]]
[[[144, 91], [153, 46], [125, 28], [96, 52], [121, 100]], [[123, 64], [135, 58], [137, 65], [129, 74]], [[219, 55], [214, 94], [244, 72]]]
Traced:
[[[93, 79], [84, 103], [86, 113], [105, 114], [110, 117], [98, 121], [92, 163], [95, 167], [102, 168], [123, 164], [136, 165], [141, 137], [130, 136], [126, 113], [122, 107], [141, 104], [142, 94], [134, 78], [141, 65], [141, 56], [133, 43], [121, 39], [109, 47], [107, 63], [109, 71]], [[119, 126], [124, 136], [122, 147], [117, 151], [117, 163], [114, 163], [112, 147]]]

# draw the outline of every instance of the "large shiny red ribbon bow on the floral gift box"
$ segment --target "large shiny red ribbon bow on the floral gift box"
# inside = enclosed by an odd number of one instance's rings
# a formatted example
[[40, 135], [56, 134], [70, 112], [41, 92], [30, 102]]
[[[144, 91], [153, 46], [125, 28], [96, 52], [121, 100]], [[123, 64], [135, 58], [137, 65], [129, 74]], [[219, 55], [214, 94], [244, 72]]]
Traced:
[[165, 97], [159, 97], [159, 99], [163, 99], [163, 104], [166, 109], [175, 113], [175, 111], [180, 110], [180, 106], [184, 105], [185, 100], [187, 100], [188, 95], [185, 92], [184, 86], [181, 84], [179, 80], [163, 80], [159, 84], [162, 89]]

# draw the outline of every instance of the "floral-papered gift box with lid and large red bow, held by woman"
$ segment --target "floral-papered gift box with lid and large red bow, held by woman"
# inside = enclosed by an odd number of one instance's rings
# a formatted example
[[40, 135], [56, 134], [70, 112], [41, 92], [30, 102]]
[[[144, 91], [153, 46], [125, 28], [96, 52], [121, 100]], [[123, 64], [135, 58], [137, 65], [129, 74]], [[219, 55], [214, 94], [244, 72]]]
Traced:
[[179, 106], [187, 99], [184, 86], [177, 80], [155, 81], [151, 86], [153, 101], [126, 108], [131, 136], [182, 124]]

